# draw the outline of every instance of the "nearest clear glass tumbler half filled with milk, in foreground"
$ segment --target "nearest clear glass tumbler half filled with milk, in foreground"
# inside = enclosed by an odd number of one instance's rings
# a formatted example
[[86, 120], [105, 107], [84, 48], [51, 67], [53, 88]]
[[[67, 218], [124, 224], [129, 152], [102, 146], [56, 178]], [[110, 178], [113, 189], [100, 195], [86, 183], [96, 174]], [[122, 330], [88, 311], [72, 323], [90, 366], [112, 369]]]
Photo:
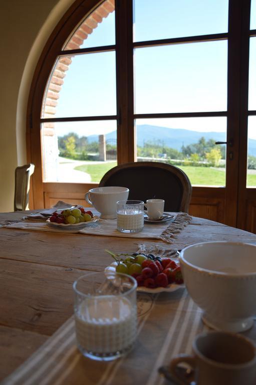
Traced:
[[136, 280], [116, 272], [87, 273], [73, 284], [77, 346], [96, 360], [126, 354], [137, 333]]

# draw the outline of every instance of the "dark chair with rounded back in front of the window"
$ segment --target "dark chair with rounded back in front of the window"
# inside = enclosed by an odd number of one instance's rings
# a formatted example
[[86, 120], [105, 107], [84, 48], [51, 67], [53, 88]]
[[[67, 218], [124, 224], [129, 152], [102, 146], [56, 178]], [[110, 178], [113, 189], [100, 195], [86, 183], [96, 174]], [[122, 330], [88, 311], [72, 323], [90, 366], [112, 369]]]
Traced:
[[130, 190], [129, 200], [163, 199], [164, 210], [188, 213], [192, 186], [178, 167], [160, 162], [120, 164], [106, 172], [99, 186], [123, 186]]

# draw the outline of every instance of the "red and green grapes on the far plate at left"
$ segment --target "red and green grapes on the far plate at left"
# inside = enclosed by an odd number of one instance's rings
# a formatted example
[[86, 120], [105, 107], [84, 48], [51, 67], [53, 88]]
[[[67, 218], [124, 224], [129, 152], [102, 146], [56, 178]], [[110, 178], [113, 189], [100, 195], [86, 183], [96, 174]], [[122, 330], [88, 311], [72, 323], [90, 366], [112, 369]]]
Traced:
[[89, 222], [93, 218], [91, 211], [85, 211], [83, 207], [79, 207], [73, 210], [66, 209], [61, 212], [55, 211], [50, 217], [50, 222], [65, 223], [74, 225], [80, 222]]

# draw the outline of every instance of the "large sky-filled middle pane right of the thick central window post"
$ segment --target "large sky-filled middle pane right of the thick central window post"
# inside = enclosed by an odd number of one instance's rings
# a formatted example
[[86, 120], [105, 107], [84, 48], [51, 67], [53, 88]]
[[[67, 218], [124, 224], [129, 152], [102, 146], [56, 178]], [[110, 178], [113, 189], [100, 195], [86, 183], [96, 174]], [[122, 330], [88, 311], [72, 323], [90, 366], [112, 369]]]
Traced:
[[140, 113], [224, 111], [227, 41], [135, 50], [135, 110]]

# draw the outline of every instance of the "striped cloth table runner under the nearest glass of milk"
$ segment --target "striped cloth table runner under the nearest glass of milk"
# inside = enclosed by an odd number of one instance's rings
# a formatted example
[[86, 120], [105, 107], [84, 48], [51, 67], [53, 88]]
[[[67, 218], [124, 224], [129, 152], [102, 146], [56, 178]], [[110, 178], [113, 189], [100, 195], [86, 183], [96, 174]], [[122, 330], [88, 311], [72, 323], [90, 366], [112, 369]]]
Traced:
[[201, 310], [179, 288], [172, 293], [138, 293], [138, 338], [134, 349], [112, 362], [93, 361], [76, 347], [71, 317], [3, 385], [159, 385], [158, 367], [179, 352], [189, 353], [194, 336], [206, 330]]

